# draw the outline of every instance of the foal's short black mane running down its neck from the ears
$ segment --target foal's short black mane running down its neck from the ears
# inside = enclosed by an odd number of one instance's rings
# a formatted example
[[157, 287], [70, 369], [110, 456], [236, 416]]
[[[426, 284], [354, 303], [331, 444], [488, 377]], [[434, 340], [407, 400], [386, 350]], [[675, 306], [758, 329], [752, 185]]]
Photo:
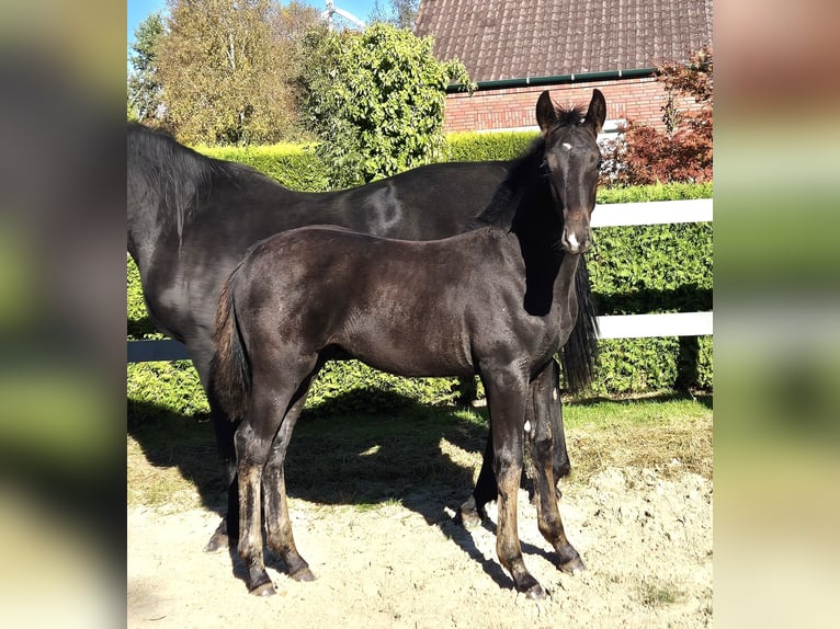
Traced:
[[582, 107], [579, 106], [559, 107], [555, 113], [557, 122], [552, 128], [540, 134], [524, 153], [509, 162], [508, 176], [496, 188], [487, 207], [469, 224], [469, 229], [487, 226], [509, 228], [511, 226], [522, 194], [535, 181], [545, 176], [543, 153], [545, 152], [546, 138], [560, 127], [581, 124], [584, 115]]

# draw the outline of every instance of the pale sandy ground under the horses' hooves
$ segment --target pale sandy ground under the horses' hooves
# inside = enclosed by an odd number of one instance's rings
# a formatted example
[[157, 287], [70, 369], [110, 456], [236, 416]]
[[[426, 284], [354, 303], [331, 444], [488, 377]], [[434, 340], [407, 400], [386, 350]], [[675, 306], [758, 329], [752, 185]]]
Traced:
[[317, 580], [294, 582], [269, 557], [279, 588], [270, 598], [248, 594], [228, 551], [202, 552], [215, 512], [129, 507], [128, 627], [711, 626], [710, 480], [606, 468], [564, 487], [560, 514], [588, 568], [576, 575], [555, 568], [520, 491], [520, 539], [548, 592], [542, 602], [518, 594], [499, 565], [492, 504], [466, 530], [431, 494], [365, 511], [292, 499], [297, 547]]

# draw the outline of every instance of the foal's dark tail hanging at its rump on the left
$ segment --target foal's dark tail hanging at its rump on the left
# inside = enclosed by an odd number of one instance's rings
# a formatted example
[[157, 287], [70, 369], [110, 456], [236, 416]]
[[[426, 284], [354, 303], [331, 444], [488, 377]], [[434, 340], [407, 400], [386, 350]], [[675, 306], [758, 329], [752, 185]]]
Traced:
[[216, 353], [211, 363], [211, 390], [230, 421], [241, 420], [251, 399], [251, 365], [236, 318], [234, 286], [237, 266], [218, 298], [214, 341]]

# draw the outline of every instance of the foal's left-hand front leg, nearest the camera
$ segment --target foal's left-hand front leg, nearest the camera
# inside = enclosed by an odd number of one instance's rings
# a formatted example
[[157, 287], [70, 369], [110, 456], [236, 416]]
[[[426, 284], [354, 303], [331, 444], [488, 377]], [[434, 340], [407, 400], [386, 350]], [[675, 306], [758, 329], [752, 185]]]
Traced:
[[517, 525], [527, 386], [524, 377], [510, 370], [487, 378], [485, 389], [493, 439], [493, 469], [499, 485], [496, 552], [519, 592], [524, 592], [529, 598], [543, 598], [543, 587], [525, 568]]

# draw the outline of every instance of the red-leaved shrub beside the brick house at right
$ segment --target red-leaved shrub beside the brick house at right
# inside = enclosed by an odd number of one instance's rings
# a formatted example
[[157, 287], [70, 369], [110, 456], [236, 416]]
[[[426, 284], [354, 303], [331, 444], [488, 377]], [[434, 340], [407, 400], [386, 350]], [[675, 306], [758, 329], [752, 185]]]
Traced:
[[[668, 94], [662, 107], [666, 130], [628, 121], [624, 139], [609, 152], [615, 164], [610, 183], [626, 185], [674, 181], [712, 181], [714, 62], [711, 48], [692, 55], [688, 64], [666, 64], [657, 80]], [[677, 102], [693, 99], [695, 111]]]

